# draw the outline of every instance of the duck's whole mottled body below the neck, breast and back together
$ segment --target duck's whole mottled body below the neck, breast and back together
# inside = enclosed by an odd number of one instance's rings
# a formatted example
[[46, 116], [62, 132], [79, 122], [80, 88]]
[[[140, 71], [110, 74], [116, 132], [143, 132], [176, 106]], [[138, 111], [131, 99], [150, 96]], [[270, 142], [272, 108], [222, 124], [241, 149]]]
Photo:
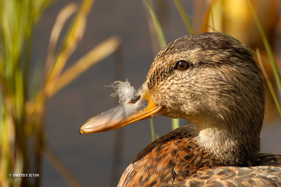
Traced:
[[281, 155], [259, 154], [254, 164], [244, 167], [220, 166], [214, 157], [184, 138], [184, 131], [186, 126], [143, 149], [124, 171], [118, 187], [281, 186]]

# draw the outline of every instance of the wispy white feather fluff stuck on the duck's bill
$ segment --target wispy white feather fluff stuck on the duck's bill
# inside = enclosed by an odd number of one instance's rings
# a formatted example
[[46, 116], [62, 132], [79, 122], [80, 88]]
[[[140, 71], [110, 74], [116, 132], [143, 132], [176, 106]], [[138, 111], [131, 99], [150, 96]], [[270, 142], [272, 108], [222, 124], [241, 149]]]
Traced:
[[126, 80], [126, 82], [122, 81], [114, 81], [109, 85], [109, 87], [113, 87], [113, 89], [116, 91], [115, 93], [111, 94], [111, 97], [119, 97], [119, 103], [122, 103], [124, 101], [130, 100], [134, 94], [135, 94], [135, 88], [130, 85], [130, 82]]

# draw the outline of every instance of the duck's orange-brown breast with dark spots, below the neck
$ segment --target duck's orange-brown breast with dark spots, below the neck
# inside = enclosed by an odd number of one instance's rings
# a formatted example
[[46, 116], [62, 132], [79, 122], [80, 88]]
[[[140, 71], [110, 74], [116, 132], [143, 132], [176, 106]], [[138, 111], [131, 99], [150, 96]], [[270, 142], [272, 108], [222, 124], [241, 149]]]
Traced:
[[195, 144], [190, 131], [180, 127], [148, 145], [125, 170], [118, 186], [172, 185], [197, 170], [218, 166]]

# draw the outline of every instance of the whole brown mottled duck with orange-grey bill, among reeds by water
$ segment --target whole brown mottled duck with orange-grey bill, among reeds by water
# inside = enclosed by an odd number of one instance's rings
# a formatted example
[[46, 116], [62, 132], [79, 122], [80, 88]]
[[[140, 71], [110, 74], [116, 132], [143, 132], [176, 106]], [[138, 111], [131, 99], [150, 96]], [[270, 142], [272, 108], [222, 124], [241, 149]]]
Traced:
[[79, 132], [157, 116], [190, 121], [136, 155], [117, 187], [281, 186], [281, 155], [259, 153], [264, 112], [263, 76], [248, 48], [205, 32], [165, 46], [144, 84]]

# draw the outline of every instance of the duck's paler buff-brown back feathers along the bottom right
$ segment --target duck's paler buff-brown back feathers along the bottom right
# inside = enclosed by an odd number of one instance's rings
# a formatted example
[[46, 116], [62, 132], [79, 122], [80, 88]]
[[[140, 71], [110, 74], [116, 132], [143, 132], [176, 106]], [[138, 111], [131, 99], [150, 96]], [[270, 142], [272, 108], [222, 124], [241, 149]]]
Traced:
[[[277, 155], [280, 157], [280, 155]], [[280, 166], [254, 166], [234, 167], [221, 166], [205, 170], [198, 170], [193, 175], [185, 177], [171, 187], [218, 187], [218, 186], [243, 186], [243, 187], [272, 187], [281, 186]]]

